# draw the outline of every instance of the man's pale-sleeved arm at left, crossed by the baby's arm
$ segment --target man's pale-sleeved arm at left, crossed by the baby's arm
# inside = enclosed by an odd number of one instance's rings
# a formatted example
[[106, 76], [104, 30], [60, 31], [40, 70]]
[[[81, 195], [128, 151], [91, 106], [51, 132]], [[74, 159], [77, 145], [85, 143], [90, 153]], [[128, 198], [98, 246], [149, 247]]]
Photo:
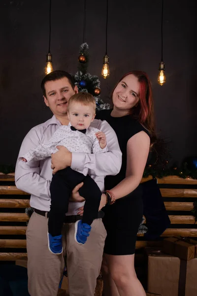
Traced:
[[[23, 140], [20, 148], [19, 157], [28, 150], [37, 147], [40, 144], [41, 133], [33, 128]], [[15, 183], [17, 188], [36, 195], [43, 199], [50, 199], [50, 181], [40, 177], [40, 162], [30, 161], [25, 163], [17, 160], [15, 169]]]

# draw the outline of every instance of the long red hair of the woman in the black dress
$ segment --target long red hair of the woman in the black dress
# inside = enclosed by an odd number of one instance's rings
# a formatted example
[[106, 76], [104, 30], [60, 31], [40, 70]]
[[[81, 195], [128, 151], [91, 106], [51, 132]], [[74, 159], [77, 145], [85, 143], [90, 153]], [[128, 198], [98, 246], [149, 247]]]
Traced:
[[[154, 140], [156, 139], [156, 134], [151, 81], [145, 72], [135, 70], [122, 76], [118, 83], [121, 82], [126, 76], [131, 74], [138, 79], [140, 87], [138, 105], [131, 108], [130, 114], [137, 118], [139, 122], [150, 132], [152, 138], [151, 142], [154, 142]], [[118, 85], [118, 83], [116, 84], [116, 86]], [[116, 86], [114, 87], [113, 92]]]

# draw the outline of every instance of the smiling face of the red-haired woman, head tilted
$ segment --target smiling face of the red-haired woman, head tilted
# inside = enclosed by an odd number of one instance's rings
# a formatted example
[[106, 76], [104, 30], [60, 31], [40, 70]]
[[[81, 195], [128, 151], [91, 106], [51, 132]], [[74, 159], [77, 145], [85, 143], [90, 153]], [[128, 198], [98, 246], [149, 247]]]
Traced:
[[121, 111], [129, 111], [139, 101], [139, 87], [140, 83], [133, 74], [123, 78], [112, 95], [114, 107]]

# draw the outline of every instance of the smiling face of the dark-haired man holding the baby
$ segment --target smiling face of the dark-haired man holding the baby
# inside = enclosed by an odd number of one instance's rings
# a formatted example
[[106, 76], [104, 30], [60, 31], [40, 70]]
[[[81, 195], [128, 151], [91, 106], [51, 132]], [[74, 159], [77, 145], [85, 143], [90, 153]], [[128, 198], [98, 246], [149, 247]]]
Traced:
[[44, 102], [57, 117], [67, 114], [67, 103], [71, 96], [78, 93], [77, 86], [72, 88], [66, 77], [55, 81], [47, 81], [44, 85], [46, 97]]

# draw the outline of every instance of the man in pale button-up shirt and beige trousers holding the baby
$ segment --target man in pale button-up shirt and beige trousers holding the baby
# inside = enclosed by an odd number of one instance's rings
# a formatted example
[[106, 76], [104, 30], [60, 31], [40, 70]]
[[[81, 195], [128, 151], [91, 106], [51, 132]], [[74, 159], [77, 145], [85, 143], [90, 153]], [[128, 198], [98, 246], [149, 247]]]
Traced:
[[[41, 143], [47, 143], [53, 133], [67, 125], [67, 102], [78, 92], [72, 77], [64, 71], [54, 71], [44, 77], [41, 83], [44, 102], [53, 112], [53, 117], [35, 126], [25, 137], [19, 157]], [[108, 152], [98, 154], [70, 153], [60, 147], [57, 153], [68, 155], [67, 165], [74, 170], [88, 169], [95, 182], [104, 191], [104, 177], [116, 175], [121, 168], [121, 151], [115, 132], [106, 121], [94, 120], [91, 124], [105, 133]], [[65, 150], [64, 150], [65, 149]], [[103, 157], [103, 155], [104, 157]], [[53, 157], [56, 153], [53, 154]], [[54, 166], [52, 166], [54, 168]], [[59, 166], [58, 169], [61, 169]], [[56, 168], [53, 173], [56, 172]], [[15, 171], [16, 186], [31, 194], [30, 205], [34, 208], [27, 228], [28, 286], [31, 296], [56, 296], [65, 267], [64, 256], [50, 253], [47, 245], [48, 219], [50, 210], [50, 182], [52, 179], [51, 158], [31, 161], [29, 164], [17, 161]], [[92, 223], [91, 234], [85, 245], [74, 241], [74, 222], [78, 220], [79, 208], [83, 206], [77, 194], [79, 184], [74, 189], [63, 227], [63, 247], [66, 255], [70, 296], [94, 296], [99, 275], [106, 231], [101, 214]]]

